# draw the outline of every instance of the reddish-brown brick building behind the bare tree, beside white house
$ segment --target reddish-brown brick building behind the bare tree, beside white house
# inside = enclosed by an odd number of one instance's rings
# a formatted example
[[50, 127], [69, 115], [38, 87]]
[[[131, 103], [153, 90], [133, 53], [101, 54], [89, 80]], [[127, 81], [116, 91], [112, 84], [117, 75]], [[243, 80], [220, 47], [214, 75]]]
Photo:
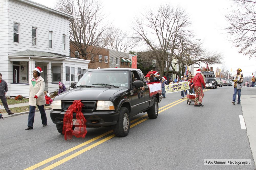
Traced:
[[[70, 57], [72, 58], [80, 58], [83, 59], [82, 56], [79, 54], [77, 49], [73, 46], [70, 42]], [[90, 46], [88, 49], [88, 60], [91, 60], [88, 64], [88, 69], [97, 69], [98, 67], [101, 69], [110, 68], [109, 67], [109, 49]]]

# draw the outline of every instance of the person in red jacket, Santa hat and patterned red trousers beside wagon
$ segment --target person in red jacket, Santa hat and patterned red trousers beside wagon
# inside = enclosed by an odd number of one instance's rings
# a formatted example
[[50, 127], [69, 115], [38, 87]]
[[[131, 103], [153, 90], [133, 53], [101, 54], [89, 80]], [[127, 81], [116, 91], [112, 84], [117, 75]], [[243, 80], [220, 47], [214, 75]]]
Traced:
[[195, 93], [196, 93], [196, 99], [195, 99], [195, 107], [200, 107], [200, 106], [204, 106], [202, 105], [202, 99], [204, 97], [204, 91], [203, 91], [203, 88], [202, 88], [202, 85], [205, 87], [205, 81], [204, 81], [204, 78], [203, 76], [201, 75], [201, 70], [198, 69], [196, 70], [197, 73], [194, 77], [194, 90], [195, 90]]

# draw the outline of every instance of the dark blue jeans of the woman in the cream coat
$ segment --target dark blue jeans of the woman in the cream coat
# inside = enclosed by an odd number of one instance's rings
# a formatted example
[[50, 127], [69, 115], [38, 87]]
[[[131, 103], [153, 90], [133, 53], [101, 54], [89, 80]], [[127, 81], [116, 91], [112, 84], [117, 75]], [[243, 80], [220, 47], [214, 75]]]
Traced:
[[[41, 114], [42, 124], [47, 125], [47, 117], [46, 117], [44, 105], [42, 105], [42, 106], [37, 105], [37, 107], [38, 107], [38, 109], [40, 111], [40, 114]], [[29, 106], [28, 126], [33, 127], [34, 119], [35, 119], [35, 110], [36, 110], [35, 106]]]

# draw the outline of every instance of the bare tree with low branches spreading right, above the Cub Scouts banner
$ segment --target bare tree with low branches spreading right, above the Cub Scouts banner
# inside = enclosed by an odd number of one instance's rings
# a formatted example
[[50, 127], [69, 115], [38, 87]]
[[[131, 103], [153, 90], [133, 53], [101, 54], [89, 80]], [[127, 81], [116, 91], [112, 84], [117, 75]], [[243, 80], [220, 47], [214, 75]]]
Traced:
[[222, 56], [220, 54], [207, 52], [206, 49], [202, 48], [202, 43], [191, 41], [192, 37], [191, 35], [177, 37], [173, 61], [170, 66], [178, 76], [184, 75], [185, 67], [192, 64], [201, 62], [208, 64], [221, 63]]

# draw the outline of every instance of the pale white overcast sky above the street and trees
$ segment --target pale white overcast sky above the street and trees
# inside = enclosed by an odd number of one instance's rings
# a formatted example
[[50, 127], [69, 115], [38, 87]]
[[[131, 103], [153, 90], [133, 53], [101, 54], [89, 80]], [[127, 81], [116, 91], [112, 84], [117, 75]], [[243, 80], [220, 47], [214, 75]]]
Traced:
[[[54, 7], [56, 0], [33, 0], [37, 3]], [[192, 30], [196, 37], [204, 43], [204, 48], [216, 51], [223, 55], [223, 63], [235, 74], [237, 68], [242, 69], [244, 76], [252, 75], [256, 71], [256, 59], [249, 60], [248, 56], [238, 54], [238, 48], [234, 47], [224, 30], [228, 26], [225, 15], [231, 11], [232, 1], [229, 0], [102, 0], [103, 12], [113, 26], [124, 31], [131, 31], [130, 27], [134, 17], [148, 8], [156, 8], [160, 4], [169, 3], [171, 6], [184, 8], [192, 21]], [[214, 69], [218, 65], [213, 66]]]

